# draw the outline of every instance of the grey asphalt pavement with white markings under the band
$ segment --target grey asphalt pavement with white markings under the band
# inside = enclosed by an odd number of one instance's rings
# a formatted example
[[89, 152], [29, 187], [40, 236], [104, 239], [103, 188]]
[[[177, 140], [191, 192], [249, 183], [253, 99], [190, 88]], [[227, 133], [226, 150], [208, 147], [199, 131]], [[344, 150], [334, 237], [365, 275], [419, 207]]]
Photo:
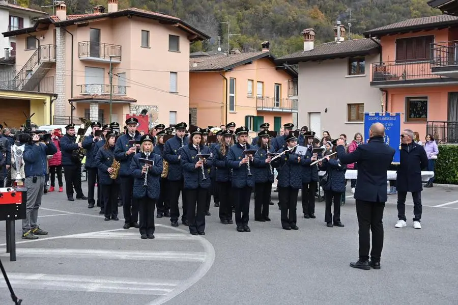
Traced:
[[[119, 221], [104, 221], [98, 208], [53, 192], [39, 215], [49, 234], [23, 240], [16, 221], [17, 261], [10, 262], [2, 223], [0, 258], [23, 305], [458, 303], [458, 188], [422, 192], [421, 230], [412, 227], [410, 196], [408, 227], [394, 228], [396, 197], [389, 197], [380, 270], [349, 266], [358, 258], [358, 224], [349, 188], [346, 196], [345, 228], [326, 227], [324, 202], [316, 219], [304, 219], [299, 199], [299, 230], [285, 231], [276, 205], [271, 222], [254, 221], [251, 200], [251, 232], [239, 233], [219, 223], [212, 202], [204, 237], [155, 218], [156, 238], [141, 240], [138, 229], [122, 229], [122, 208]], [[0, 304], [9, 303], [0, 277]]]

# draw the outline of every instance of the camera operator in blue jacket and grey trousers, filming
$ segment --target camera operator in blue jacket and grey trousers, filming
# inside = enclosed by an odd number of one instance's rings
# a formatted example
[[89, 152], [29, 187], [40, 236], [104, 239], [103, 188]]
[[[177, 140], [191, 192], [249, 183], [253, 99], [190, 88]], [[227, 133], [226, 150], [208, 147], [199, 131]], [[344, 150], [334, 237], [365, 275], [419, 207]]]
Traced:
[[48, 234], [37, 225], [38, 209], [41, 205], [45, 185], [47, 155], [53, 155], [56, 152], [57, 149], [50, 138], [40, 136], [40, 134], [34, 134], [32, 143], [25, 146], [23, 159], [25, 162], [27, 202], [25, 204], [25, 219], [22, 220], [22, 238], [24, 239], [38, 239], [37, 235]]

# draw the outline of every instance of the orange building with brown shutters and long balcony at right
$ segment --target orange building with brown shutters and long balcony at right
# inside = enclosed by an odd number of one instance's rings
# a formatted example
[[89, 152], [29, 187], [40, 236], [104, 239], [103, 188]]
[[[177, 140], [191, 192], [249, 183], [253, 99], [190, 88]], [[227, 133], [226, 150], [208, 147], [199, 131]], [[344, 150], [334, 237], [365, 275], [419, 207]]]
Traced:
[[458, 17], [400, 21], [364, 33], [380, 39], [381, 62], [371, 66], [370, 86], [385, 94], [385, 109], [403, 113], [403, 128], [457, 142]]

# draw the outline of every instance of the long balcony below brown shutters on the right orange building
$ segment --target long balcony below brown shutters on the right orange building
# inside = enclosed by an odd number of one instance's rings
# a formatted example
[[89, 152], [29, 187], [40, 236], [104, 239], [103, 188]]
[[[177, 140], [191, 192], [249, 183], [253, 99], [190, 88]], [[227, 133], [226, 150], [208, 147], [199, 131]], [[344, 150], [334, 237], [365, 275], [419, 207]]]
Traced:
[[458, 84], [458, 79], [436, 75], [432, 60], [416, 62], [382, 62], [372, 64], [371, 87], [423, 87]]

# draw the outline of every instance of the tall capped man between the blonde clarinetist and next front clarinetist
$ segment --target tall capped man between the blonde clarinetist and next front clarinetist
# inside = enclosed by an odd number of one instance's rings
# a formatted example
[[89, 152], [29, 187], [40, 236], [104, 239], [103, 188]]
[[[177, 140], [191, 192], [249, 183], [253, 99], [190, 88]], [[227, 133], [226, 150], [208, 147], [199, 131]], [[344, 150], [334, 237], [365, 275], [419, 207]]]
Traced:
[[183, 202], [183, 215], [181, 222], [183, 225], [188, 225], [186, 192], [183, 192], [183, 172], [181, 168], [180, 150], [185, 146], [188, 139], [185, 137], [186, 127], [185, 122], [175, 125], [175, 136], [165, 142], [163, 158], [168, 162], [168, 192], [170, 200], [170, 223], [172, 227], [178, 227], [178, 218], [180, 217], [180, 209], [178, 207], [178, 199]]

